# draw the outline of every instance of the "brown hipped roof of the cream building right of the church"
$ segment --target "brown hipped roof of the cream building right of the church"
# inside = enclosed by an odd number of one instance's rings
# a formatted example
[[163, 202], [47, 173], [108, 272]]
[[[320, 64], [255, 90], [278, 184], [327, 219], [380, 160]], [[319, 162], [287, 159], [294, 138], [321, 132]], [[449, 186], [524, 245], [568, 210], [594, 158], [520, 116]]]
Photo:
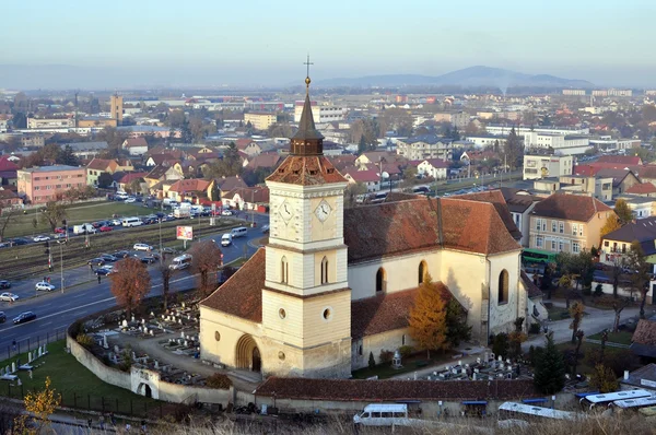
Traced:
[[553, 193], [538, 202], [532, 214], [540, 217], [589, 222], [598, 212], [612, 211], [596, 198], [584, 195]]

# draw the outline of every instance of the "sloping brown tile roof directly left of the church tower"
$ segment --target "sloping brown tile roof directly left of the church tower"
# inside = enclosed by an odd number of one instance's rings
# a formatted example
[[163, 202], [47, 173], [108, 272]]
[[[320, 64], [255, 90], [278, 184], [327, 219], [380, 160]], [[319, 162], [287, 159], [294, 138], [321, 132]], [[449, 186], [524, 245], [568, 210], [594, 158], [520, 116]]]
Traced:
[[262, 321], [265, 275], [265, 248], [259, 248], [239, 270], [230, 277], [214, 293], [201, 301], [200, 304], [231, 316], [260, 324]]

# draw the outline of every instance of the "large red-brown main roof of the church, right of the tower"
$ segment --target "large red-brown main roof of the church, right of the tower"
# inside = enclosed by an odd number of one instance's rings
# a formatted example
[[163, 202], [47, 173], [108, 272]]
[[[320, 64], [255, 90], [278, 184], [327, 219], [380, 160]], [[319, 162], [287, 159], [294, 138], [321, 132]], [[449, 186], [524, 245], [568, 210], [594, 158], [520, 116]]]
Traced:
[[[438, 223], [438, 201], [442, 224]], [[518, 250], [494, 204], [459, 198], [410, 199], [344, 210], [349, 262], [445, 248], [484, 255]]]

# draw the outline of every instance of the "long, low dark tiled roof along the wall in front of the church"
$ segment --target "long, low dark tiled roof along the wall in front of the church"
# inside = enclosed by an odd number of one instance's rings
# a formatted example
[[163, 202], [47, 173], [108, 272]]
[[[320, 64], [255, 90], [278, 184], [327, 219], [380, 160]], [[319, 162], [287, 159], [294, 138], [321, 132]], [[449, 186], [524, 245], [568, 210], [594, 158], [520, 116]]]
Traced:
[[296, 400], [379, 402], [390, 400], [476, 400], [537, 397], [530, 379], [487, 380], [356, 380], [280, 378], [261, 384], [257, 396]]

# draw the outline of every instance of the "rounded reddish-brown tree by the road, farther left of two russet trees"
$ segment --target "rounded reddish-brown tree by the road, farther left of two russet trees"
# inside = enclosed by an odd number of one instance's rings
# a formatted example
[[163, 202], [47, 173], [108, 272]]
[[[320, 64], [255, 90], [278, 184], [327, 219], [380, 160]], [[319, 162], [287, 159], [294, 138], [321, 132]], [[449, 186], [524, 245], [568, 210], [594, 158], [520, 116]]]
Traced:
[[138, 258], [125, 258], [114, 266], [109, 280], [112, 294], [130, 317], [151, 289], [151, 278], [145, 264]]

